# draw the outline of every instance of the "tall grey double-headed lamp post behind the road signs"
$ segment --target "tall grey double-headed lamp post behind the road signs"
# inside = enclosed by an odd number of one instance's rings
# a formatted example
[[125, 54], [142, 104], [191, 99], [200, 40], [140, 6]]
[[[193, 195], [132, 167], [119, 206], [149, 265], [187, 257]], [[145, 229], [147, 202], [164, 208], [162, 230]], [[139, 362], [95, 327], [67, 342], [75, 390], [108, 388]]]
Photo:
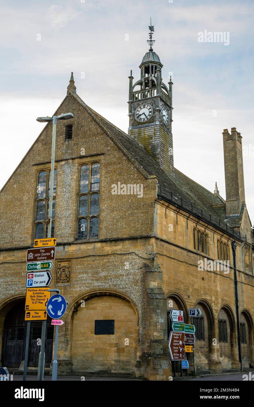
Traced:
[[[52, 211], [53, 211], [53, 188], [54, 188], [54, 177], [55, 177], [55, 140], [56, 140], [56, 130], [57, 130], [57, 120], [69, 120], [73, 119], [72, 113], [63, 113], [59, 116], [53, 117], [37, 117], [37, 122], [46, 123], [53, 122], [53, 132], [52, 132], [52, 151], [51, 151], [51, 170], [50, 170], [50, 190], [49, 190], [49, 207], [48, 207], [48, 236], [51, 237], [52, 228]], [[38, 380], [44, 380], [44, 364], [45, 364], [45, 337], [46, 337], [46, 320], [42, 323], [42, 345], [41, 351], [39, 352], [39, 363], [38, 363]]]

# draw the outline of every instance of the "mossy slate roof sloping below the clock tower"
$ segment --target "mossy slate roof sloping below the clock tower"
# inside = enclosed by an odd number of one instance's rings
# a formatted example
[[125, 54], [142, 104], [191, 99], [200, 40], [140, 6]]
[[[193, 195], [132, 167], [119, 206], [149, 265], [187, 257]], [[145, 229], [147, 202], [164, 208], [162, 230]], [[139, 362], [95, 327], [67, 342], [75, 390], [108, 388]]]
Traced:
[[109, 136], [113, 136], [114, 140], [117, 140], [123, 149], [134, 158], [148, 175], [155, 175], [158, 178], [159, 198], [167, 202], [172, 202], [173, 205], [193, 213], [195, 217], [199, 217], [211, 223], [216, 228], [226, 230], [229, 234], [233, 234], [233, 230], [224, 220], [223, 210], [213, 208], [215, 205], [221, 206], [221, 204], [224, 204], [225, 201], [223, 201], [222, 198], [220, 199], [176, 168], [175, 176], [167, 174], [160, 168], [159, 164], [151, 155], [149, 155], [142, 144], [91, 109], [77, 94], [73, 96], [77, 98], [79, 103], [81, 103], [88, 114], [94, 118], [101, 128], [106, 131]]

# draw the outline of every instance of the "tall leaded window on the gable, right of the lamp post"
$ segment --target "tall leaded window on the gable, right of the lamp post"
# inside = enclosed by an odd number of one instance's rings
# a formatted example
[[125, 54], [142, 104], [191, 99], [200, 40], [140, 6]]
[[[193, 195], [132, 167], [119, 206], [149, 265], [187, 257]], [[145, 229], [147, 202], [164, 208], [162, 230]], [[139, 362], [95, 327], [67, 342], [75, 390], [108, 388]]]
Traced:
[[[100, 163], [82, 164], [77, 201], [77, 238], [99, 237]], [[96, 192], [95, 192], [96, 191]]]

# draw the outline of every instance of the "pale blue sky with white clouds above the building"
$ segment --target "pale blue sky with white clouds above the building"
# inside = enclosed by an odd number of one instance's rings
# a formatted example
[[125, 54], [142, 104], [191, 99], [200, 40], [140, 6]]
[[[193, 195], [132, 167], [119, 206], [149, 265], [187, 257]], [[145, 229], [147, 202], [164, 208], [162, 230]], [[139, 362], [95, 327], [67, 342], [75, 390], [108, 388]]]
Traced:
[[[175, 167], [212, 192], [217, 182], [225, 199], [221, 133], [236, 127], [254, 223], [253, 0], [2, 0], [0, 15], [0, 188], [42, 131], [35, 119], [66, 96], [71, 71], [83, 101], [128, 131], [128, 76], [140, 77], [151, 16], [163, 81], [174, 83]], [[224, 41], [199, 41], [218, 31]]]

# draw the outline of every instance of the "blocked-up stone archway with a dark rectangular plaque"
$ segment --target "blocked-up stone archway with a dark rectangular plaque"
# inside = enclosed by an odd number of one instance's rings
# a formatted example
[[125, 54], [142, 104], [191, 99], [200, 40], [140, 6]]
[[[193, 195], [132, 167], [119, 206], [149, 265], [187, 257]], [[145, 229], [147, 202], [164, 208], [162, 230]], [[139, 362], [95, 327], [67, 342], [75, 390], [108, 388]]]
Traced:
[[137, 313], [123, 295], [86, 295], [72, 313], [72, 370], [134, 374], [137, 326]]

